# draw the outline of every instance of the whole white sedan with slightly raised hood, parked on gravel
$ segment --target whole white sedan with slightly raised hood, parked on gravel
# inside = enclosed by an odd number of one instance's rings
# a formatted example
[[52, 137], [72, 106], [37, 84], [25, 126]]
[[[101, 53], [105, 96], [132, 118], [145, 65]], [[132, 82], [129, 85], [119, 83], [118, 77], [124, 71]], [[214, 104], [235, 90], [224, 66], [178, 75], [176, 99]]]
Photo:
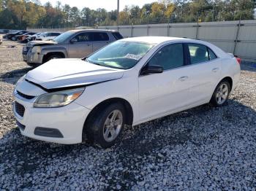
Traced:
[[202, 104], [222, 106], [238, 85], [237, 58], [208, 42], [172, 37], [121, 39], [83, 59], [54, 59], [14, 90], [24, 136], [110, 147], [124, 125]]

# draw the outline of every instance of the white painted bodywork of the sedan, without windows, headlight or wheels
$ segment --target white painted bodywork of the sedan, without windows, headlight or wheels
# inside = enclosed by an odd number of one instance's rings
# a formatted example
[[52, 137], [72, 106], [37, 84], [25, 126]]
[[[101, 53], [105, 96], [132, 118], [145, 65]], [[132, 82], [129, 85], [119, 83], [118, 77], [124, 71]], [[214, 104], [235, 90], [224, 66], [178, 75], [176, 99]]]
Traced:
[[[110, 98], [127, 101], [132, 106], [132, 125], [138, 125], [208, 103], [215, 87], [225, 77], [232, 79], [232, 91], [238, 84], [240, 66], [236, 58], [208, 42], [157, 36], [135, 37], [121, 41], [148, 42], [156, 45], [128, 70], [97, 66], [80, 59], [54, 59], [29, 71], [26, 79], [18, 82], [15, 87], [15, 101], [26, 108], [23, 117], [15, 113], [16, 120], [26, 125], [26, 129], [21, 130], [23, 135], [61, 144], [80, 143], [83, 124], [89, 113], [95, 106]], [[140, 69], [154, 52], [165, 44], [176, 42], [204, 44], [214, 50], [217, 58], [206, 63], [166, 70], [161, 74], [140, 76]], [[50, 109], [33, 107], [37, 96], [47, 93], [48, 90], [79, 85], [86, 86], [86, 89], [67, 106]], [[17, 94], [17, 90], [36, 97], [27, 101]], [[58, 128], [64, 138], [35, 136], [33, 130], [36, 126]]]

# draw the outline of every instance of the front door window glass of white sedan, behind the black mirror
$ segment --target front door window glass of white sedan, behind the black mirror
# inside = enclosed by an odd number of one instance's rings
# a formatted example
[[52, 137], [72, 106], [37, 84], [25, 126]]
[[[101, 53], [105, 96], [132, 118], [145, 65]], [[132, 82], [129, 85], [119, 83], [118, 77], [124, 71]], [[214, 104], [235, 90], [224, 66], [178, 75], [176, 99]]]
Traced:
[[183, 44], [169, 44], [158, 50], [148, 62], [148, 65], [162, 66], [164, 70], [184, 66]]

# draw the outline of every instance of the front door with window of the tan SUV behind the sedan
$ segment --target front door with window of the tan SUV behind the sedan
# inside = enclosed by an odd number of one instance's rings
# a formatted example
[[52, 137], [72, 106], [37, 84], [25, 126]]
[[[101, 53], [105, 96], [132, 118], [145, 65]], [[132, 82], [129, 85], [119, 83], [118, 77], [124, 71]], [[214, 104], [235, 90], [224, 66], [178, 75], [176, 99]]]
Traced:
[[69, 58], [83, 58], [92, 52], [93, 34], [85, 32], [77, 34], [69, 42]]

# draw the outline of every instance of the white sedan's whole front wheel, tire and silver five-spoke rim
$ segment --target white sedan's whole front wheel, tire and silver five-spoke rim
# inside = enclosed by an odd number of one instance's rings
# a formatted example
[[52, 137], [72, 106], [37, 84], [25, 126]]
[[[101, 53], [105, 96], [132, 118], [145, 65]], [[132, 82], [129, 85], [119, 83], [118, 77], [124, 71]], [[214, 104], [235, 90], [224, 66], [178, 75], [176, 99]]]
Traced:
[[118, 141], [126, 124], [124, 106], [119, 103], [97, 109], [86, 124], [86, 137], [97, 147], [108, 148]]

